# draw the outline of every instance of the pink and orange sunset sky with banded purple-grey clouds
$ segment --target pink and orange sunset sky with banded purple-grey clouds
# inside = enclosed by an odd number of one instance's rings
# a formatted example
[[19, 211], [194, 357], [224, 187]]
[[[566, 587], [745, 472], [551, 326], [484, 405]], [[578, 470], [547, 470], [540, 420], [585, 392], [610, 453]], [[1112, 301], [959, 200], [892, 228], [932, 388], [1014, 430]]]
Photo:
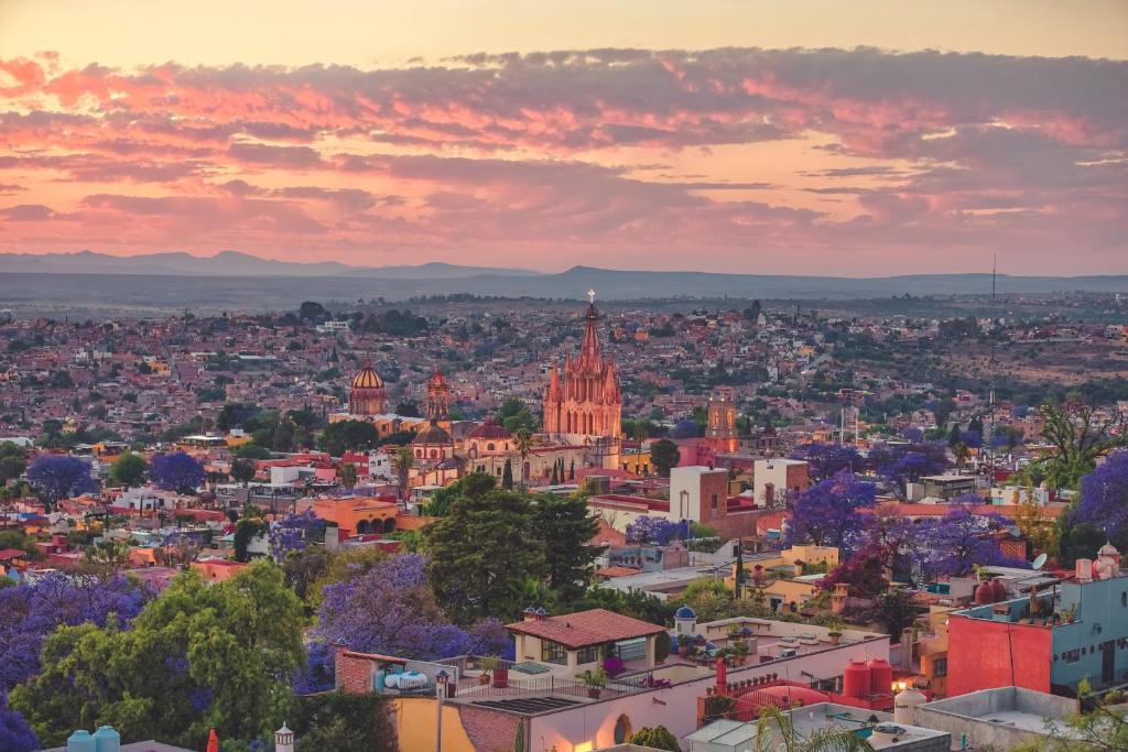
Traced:
[[0, 0], [0, 253], [1128, 274], [1126, 0]]

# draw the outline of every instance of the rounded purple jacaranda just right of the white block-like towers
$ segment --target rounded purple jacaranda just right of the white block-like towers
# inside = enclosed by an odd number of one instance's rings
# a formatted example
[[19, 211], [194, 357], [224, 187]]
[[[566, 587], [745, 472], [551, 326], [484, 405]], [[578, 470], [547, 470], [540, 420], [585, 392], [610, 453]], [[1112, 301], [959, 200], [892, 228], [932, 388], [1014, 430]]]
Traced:
[[874, 505], [876, 494], [872, 483], [845, 471], [811, 486], [795, 501], [787, 545], [836, 546], [848, 556], [864, 542], [862, 510]]

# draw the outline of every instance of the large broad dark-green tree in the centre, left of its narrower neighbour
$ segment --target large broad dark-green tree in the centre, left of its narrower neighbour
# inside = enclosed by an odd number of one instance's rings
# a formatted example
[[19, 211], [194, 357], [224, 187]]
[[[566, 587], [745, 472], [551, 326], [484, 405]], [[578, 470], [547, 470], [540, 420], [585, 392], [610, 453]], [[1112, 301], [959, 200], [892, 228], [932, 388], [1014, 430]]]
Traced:
[[532, 536], [528, 495], [491, 490], [462, 496], [450, 514], [424, 528], [428, 576], [456, 622], [515, 618], [527, 577], [545, 572], [544, 545]]

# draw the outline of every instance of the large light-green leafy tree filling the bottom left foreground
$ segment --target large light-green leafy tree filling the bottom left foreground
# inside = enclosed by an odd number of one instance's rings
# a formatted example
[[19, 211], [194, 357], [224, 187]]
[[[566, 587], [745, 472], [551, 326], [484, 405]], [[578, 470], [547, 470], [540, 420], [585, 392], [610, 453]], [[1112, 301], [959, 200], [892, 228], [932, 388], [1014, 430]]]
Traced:
[[302, 660], [301, 603], [277, 567], [255, 564], [214, 585], [186, 572], [127, 631], [113, 620], [56, 629], [11, 706], [44, 746], [109, 724], [124, 742], [203, 749], [210, 728], [248, 741], [277, 728]]

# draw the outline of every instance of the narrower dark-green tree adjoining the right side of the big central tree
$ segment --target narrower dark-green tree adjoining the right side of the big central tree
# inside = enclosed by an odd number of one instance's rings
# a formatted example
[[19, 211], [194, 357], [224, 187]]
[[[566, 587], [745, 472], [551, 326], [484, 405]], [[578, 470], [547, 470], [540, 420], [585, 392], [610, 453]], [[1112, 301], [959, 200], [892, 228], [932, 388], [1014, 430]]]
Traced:
[[599, 532], [599, 521], [588, 503], [572, 496], [544, 494], [532, 505], [532, 534], [545, 549], [548, 586], [562, 600], [583, 593], [592, 565], [602, 546], [589, 542]]

